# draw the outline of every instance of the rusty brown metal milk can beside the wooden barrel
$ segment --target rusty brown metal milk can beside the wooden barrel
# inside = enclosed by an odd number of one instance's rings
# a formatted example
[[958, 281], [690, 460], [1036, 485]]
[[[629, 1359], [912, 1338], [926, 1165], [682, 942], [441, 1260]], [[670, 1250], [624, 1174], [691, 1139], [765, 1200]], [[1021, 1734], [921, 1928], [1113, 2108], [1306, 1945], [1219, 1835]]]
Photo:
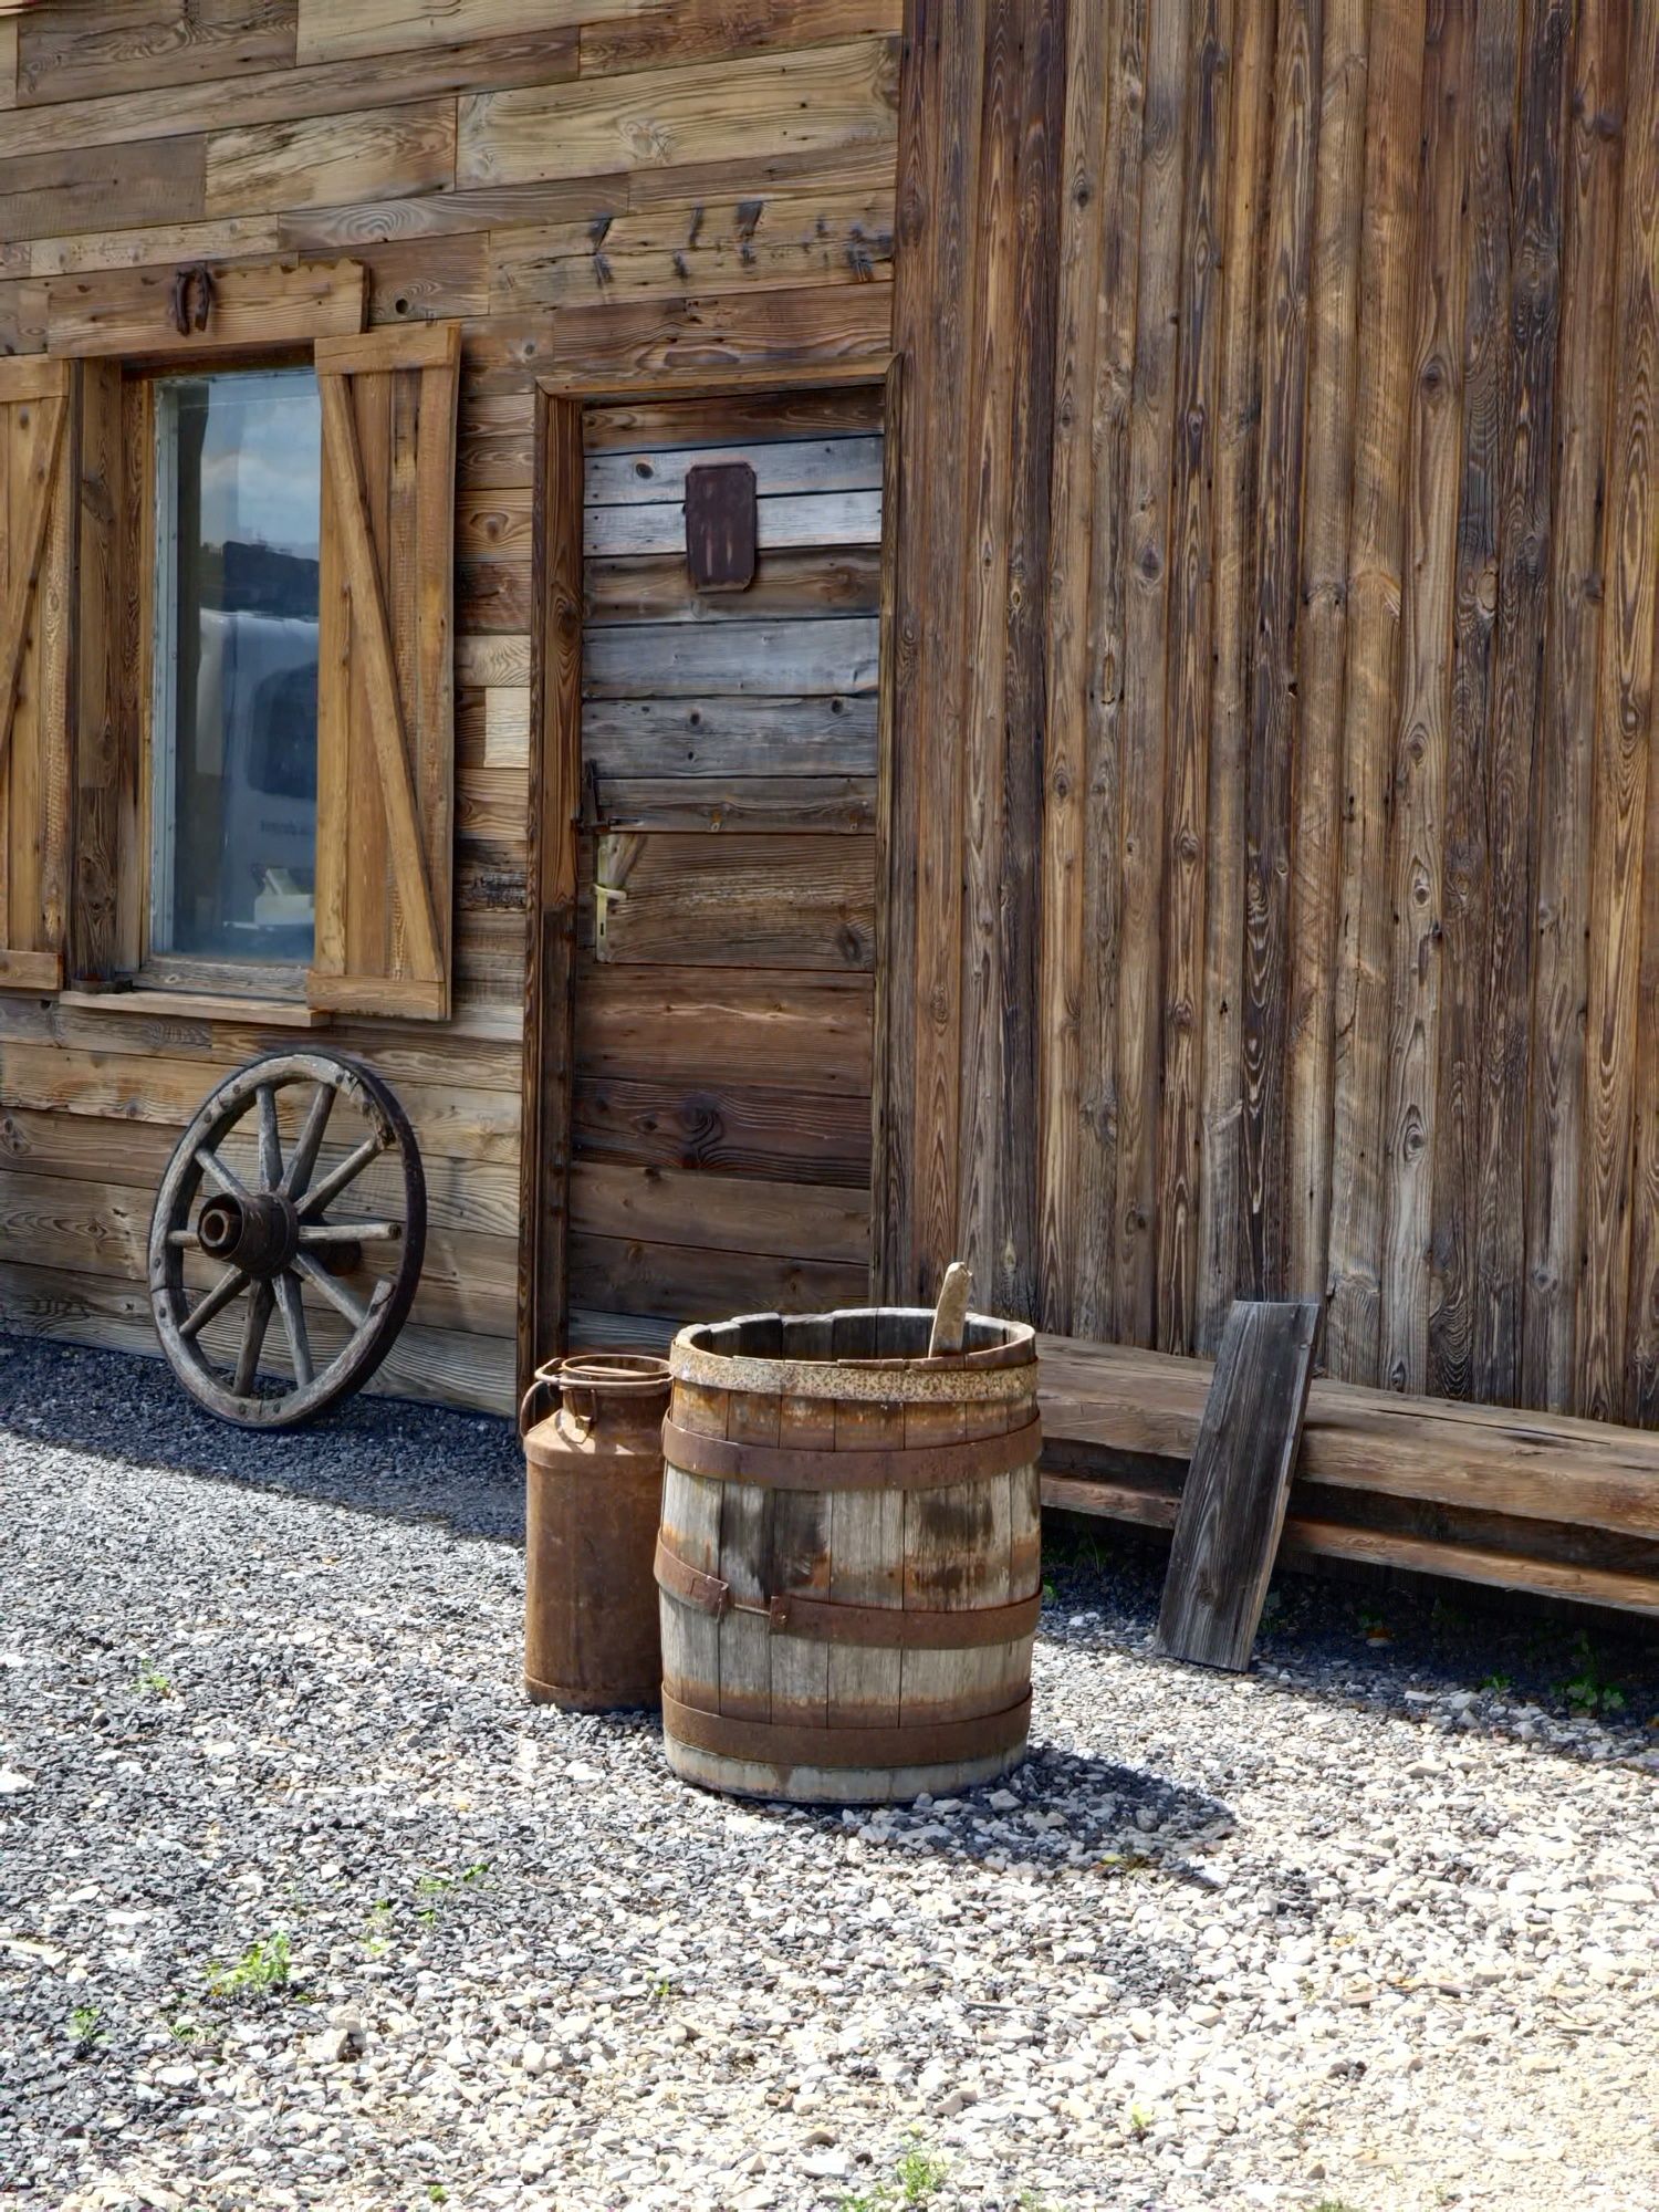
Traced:
[[668, 1363], [635, 1352], [549, 1360], [560, 1405], [524, 1436], [524, 1690], [566, 1712], [661, 1703], [653, 1553]]

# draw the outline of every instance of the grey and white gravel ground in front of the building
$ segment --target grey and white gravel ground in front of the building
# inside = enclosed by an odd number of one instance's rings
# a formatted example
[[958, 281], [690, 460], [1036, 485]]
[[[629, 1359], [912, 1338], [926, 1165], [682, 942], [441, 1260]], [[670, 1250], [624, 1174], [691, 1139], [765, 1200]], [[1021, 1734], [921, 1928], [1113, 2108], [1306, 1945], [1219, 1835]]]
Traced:
[[0, 1489], [7, 2208], [1659, 2205], [1650, 1639], [1062, 1537], [1026, 1765], [805, 1814], [520, 1701], [500, 1422], [0, 1338]]

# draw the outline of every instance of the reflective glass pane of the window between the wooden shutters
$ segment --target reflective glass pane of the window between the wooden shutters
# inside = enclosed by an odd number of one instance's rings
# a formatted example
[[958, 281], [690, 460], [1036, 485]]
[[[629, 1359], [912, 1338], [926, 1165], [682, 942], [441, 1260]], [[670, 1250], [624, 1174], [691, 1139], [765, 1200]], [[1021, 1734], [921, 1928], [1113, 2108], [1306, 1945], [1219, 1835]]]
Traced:
[[157, 387], [155, 951], [312, 956], [319, 495], [310, 369]]

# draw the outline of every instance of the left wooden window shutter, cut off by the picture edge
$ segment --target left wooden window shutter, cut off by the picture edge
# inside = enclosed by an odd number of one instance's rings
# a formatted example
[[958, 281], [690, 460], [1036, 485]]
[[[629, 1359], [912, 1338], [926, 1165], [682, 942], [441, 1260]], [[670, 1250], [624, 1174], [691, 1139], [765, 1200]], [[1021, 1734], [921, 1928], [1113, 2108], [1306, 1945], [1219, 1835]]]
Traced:
[[69, 361], [0, 361], [0, 987], [55, 991], [69, 909]]

